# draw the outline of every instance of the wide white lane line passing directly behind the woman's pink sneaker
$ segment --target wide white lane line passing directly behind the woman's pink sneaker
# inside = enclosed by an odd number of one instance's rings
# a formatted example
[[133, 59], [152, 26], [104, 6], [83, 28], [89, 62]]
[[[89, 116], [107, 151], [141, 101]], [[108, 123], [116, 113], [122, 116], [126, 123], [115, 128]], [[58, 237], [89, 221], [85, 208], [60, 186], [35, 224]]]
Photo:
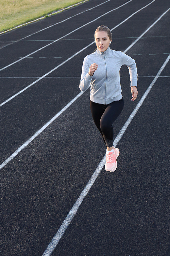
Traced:
[[[124, 132], [126, 131], [126, 129], [128, 128], [129, 124], [131, 123], [132, 119], [136, 115], [136, 113], [137, 113], [138, 109], [140, 108], [140, 106], [142, 105], [143, 101], [148, 96], [150, 90], [152, 89], [152, 87], [155, 84], [156, 80], [158, 79], [159, 75], [162, 73], [163, 69], [167, 65], [169, 59], [170, 59], [170, 55], [168, 56], [168, 58], [166, 59], [166, 61], [163, 64], [163, 66], [160, 68], [159, 72], [155, 76], [154, 80], [152, 81], [152, 83], [150, 84], [148, 89], [146, 90], [145, 94], [143, 94], [143, 96], [140, 99], [139, 103], [136, 105], [136, 108], [133, 110], [132, 114], [130, 115], [130, 117], [128, 118], [128, 120], [126, 121], [126, 123], [124, 124], [122, 129], [120, 130], [119, 134], [117, 135], [116, 139], [114, 140], [114, 146], [115, 147], [118, 144], [118, 142], [120, 141], [120, 139], [122, 138]], [[87, 183], [86, 187], [82, 191], [81, 195], [79, 196], [79, 198], [77, 199], [77, 201], [75, 202], [73, 207], [71, 208], [69, 214], [67, 215], [67, 217], [63, 221], [62, 225], [58, 229], [57, 233], [53, 237], [52, 241], [48, 245], [47, 249], [43, 253], [43, 256], [50, 256], [52, 254], [52, 252], [54, 251], [55, 247], [57, 246], [58, 242], [60, 241], [60, 239], [62, 238], [62, 236], [65, 233], [66, 229], [68, 228], [70, 222], [72, 221], [74, 215], [77, 213], [77, 211], [78, 211], [81, 203], [83, 202], [84, 198], [86, 197], [88, 191], [90, 190], [90, 188], [92, 187], [92, 185], [96, 181], [99, 173], [103, 169], [103, 167], [105, 165], [105, 161], [106, 161], [106, 156], [104, 156], [103, 159], [101, 160], [101, 162], [99, 163], [99, 166], [95, 170], [94, 174], [91, 176], [91, 178], [90, 178], [89, 182]]]

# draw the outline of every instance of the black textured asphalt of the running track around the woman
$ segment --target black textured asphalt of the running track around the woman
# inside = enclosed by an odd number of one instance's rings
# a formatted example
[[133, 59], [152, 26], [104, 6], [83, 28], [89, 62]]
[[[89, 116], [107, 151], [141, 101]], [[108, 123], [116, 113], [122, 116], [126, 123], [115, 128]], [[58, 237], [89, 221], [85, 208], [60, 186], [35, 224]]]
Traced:
[[[170, 8], [169, 0], [104, 2], [90, 0], [0, 35], [0, 255], [43, 255], [104, 157], [88, 89], [9, 159], [80, 93], [83, 59], [95, 44], [81, 50], [93, 42], [95, 29], [118, 25], [111, 49], [123, 52]], [[126, 52], [137, 64], [138, 98], [131, 101], [123, 66], [125, 105], [114, 123], [115, 138], [170, 54], [169, 21], [170, 10]], [[169, 70], [167, 61], [117, 144], [116, 171], [102, 168], [52, 256], [170, 255]]]

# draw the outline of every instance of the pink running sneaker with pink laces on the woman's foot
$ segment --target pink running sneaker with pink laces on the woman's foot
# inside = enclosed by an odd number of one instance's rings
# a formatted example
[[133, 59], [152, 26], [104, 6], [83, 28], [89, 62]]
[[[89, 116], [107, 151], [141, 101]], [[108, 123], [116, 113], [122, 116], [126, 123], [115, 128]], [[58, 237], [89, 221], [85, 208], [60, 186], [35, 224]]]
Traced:
[[119, 156], [119, 149], [114, 148], [114, 152], [106, 153], [106, 163], [105, 169], [106, 171], [114, 172], [117, 168], [117, 157]]

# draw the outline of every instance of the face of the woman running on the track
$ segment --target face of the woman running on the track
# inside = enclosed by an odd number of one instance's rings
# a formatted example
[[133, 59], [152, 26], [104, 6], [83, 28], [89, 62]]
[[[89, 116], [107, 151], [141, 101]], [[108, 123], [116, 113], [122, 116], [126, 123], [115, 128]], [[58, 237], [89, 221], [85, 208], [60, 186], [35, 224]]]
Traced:
[[107, 32], [105, 31], [96, 32], [95, 43], [100, 52], [106, 51], [109, 46], [109, 43], [111, 42], [112, 40], [109, 39]]

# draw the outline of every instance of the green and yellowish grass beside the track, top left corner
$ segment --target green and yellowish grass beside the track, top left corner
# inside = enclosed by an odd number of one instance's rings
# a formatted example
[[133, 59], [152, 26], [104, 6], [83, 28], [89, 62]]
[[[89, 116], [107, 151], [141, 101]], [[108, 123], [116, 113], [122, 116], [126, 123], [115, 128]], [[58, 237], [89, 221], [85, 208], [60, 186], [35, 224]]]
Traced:
[[[83, 1], [83, 0], [82, 0]], [[81, 0], [0, 0], [0, 31], [14, 28]]]

